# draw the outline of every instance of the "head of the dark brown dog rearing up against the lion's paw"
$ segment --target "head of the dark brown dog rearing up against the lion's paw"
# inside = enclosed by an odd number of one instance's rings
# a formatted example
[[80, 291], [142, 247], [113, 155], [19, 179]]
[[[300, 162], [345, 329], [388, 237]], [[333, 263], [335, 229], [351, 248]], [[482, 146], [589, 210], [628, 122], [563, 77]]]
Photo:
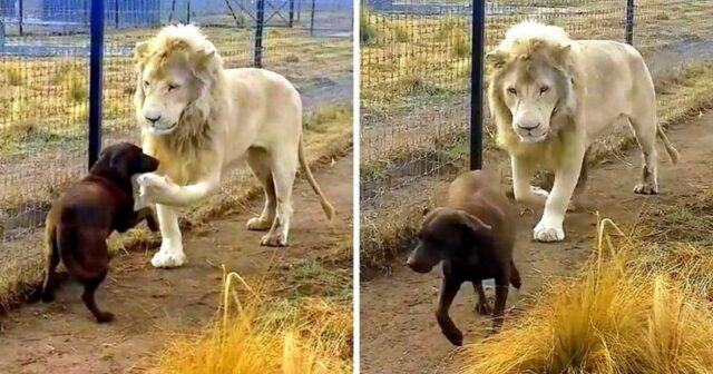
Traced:
[[158, 160], [144, 154], [140, 147], [130, 142], [118, 142], [101, 150], [99, 159], [89, 173], [111, 174], [127, 180], [137, 174], [152, 173], [156, 169], [158, 169]]

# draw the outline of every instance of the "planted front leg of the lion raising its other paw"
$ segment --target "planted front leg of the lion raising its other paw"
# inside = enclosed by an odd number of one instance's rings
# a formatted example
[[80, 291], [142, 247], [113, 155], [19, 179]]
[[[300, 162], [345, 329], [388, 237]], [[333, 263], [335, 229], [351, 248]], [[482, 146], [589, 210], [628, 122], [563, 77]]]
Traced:
[[178, 227], [178, 211], [167, 205], [156, 205], [158, 227], [160, 228], [160, 249], [152, 258], [154, 267], [178, 267], [186, 263], [183, 252], [180, 227]]

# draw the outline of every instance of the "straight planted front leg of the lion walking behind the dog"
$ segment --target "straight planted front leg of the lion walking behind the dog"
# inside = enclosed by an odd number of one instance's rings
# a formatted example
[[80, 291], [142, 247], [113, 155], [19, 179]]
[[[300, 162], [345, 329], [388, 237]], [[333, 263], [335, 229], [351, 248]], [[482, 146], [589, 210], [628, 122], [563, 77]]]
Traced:
[[[573, 139], [573, 142], [576, 140]], [[561, 165], [555, 171], [555, 184], [547, 197], [543, 218], [539, 220], [533, 236], [538, 242], [561, 242], [565, 239], [565, 215], [572, 199], [584, 158], [584, 144], [575, 145], [570, 151], [563, 155]]]

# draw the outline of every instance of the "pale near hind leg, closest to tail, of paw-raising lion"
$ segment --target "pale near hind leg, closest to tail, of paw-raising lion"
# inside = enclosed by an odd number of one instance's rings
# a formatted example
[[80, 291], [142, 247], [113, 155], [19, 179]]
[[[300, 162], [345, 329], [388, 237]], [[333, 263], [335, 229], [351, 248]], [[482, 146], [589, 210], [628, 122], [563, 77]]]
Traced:
[[287, 245], [290, 219], [292, 218], [292, 186], [294, 185], [299, 161], [296, 144], [294, 146], [274, 149], [271, 155], [277, 207], [270, 233], [263, 236], [261, 240], [261, 245], [264, 246], [284, 247]]

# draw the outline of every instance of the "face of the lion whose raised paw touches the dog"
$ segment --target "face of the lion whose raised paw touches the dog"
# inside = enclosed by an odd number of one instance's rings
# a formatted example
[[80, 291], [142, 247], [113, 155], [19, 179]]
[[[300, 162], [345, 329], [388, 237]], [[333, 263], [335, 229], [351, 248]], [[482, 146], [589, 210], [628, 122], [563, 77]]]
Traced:
[[137, 108], [140, 125], [156, 135], [173, 132], [194, 99], [194, 78], [189, 69], [177, 63], [158, 67], [149, 61], [139, 79], [138, 89], [144, 94], [140, 108]]

